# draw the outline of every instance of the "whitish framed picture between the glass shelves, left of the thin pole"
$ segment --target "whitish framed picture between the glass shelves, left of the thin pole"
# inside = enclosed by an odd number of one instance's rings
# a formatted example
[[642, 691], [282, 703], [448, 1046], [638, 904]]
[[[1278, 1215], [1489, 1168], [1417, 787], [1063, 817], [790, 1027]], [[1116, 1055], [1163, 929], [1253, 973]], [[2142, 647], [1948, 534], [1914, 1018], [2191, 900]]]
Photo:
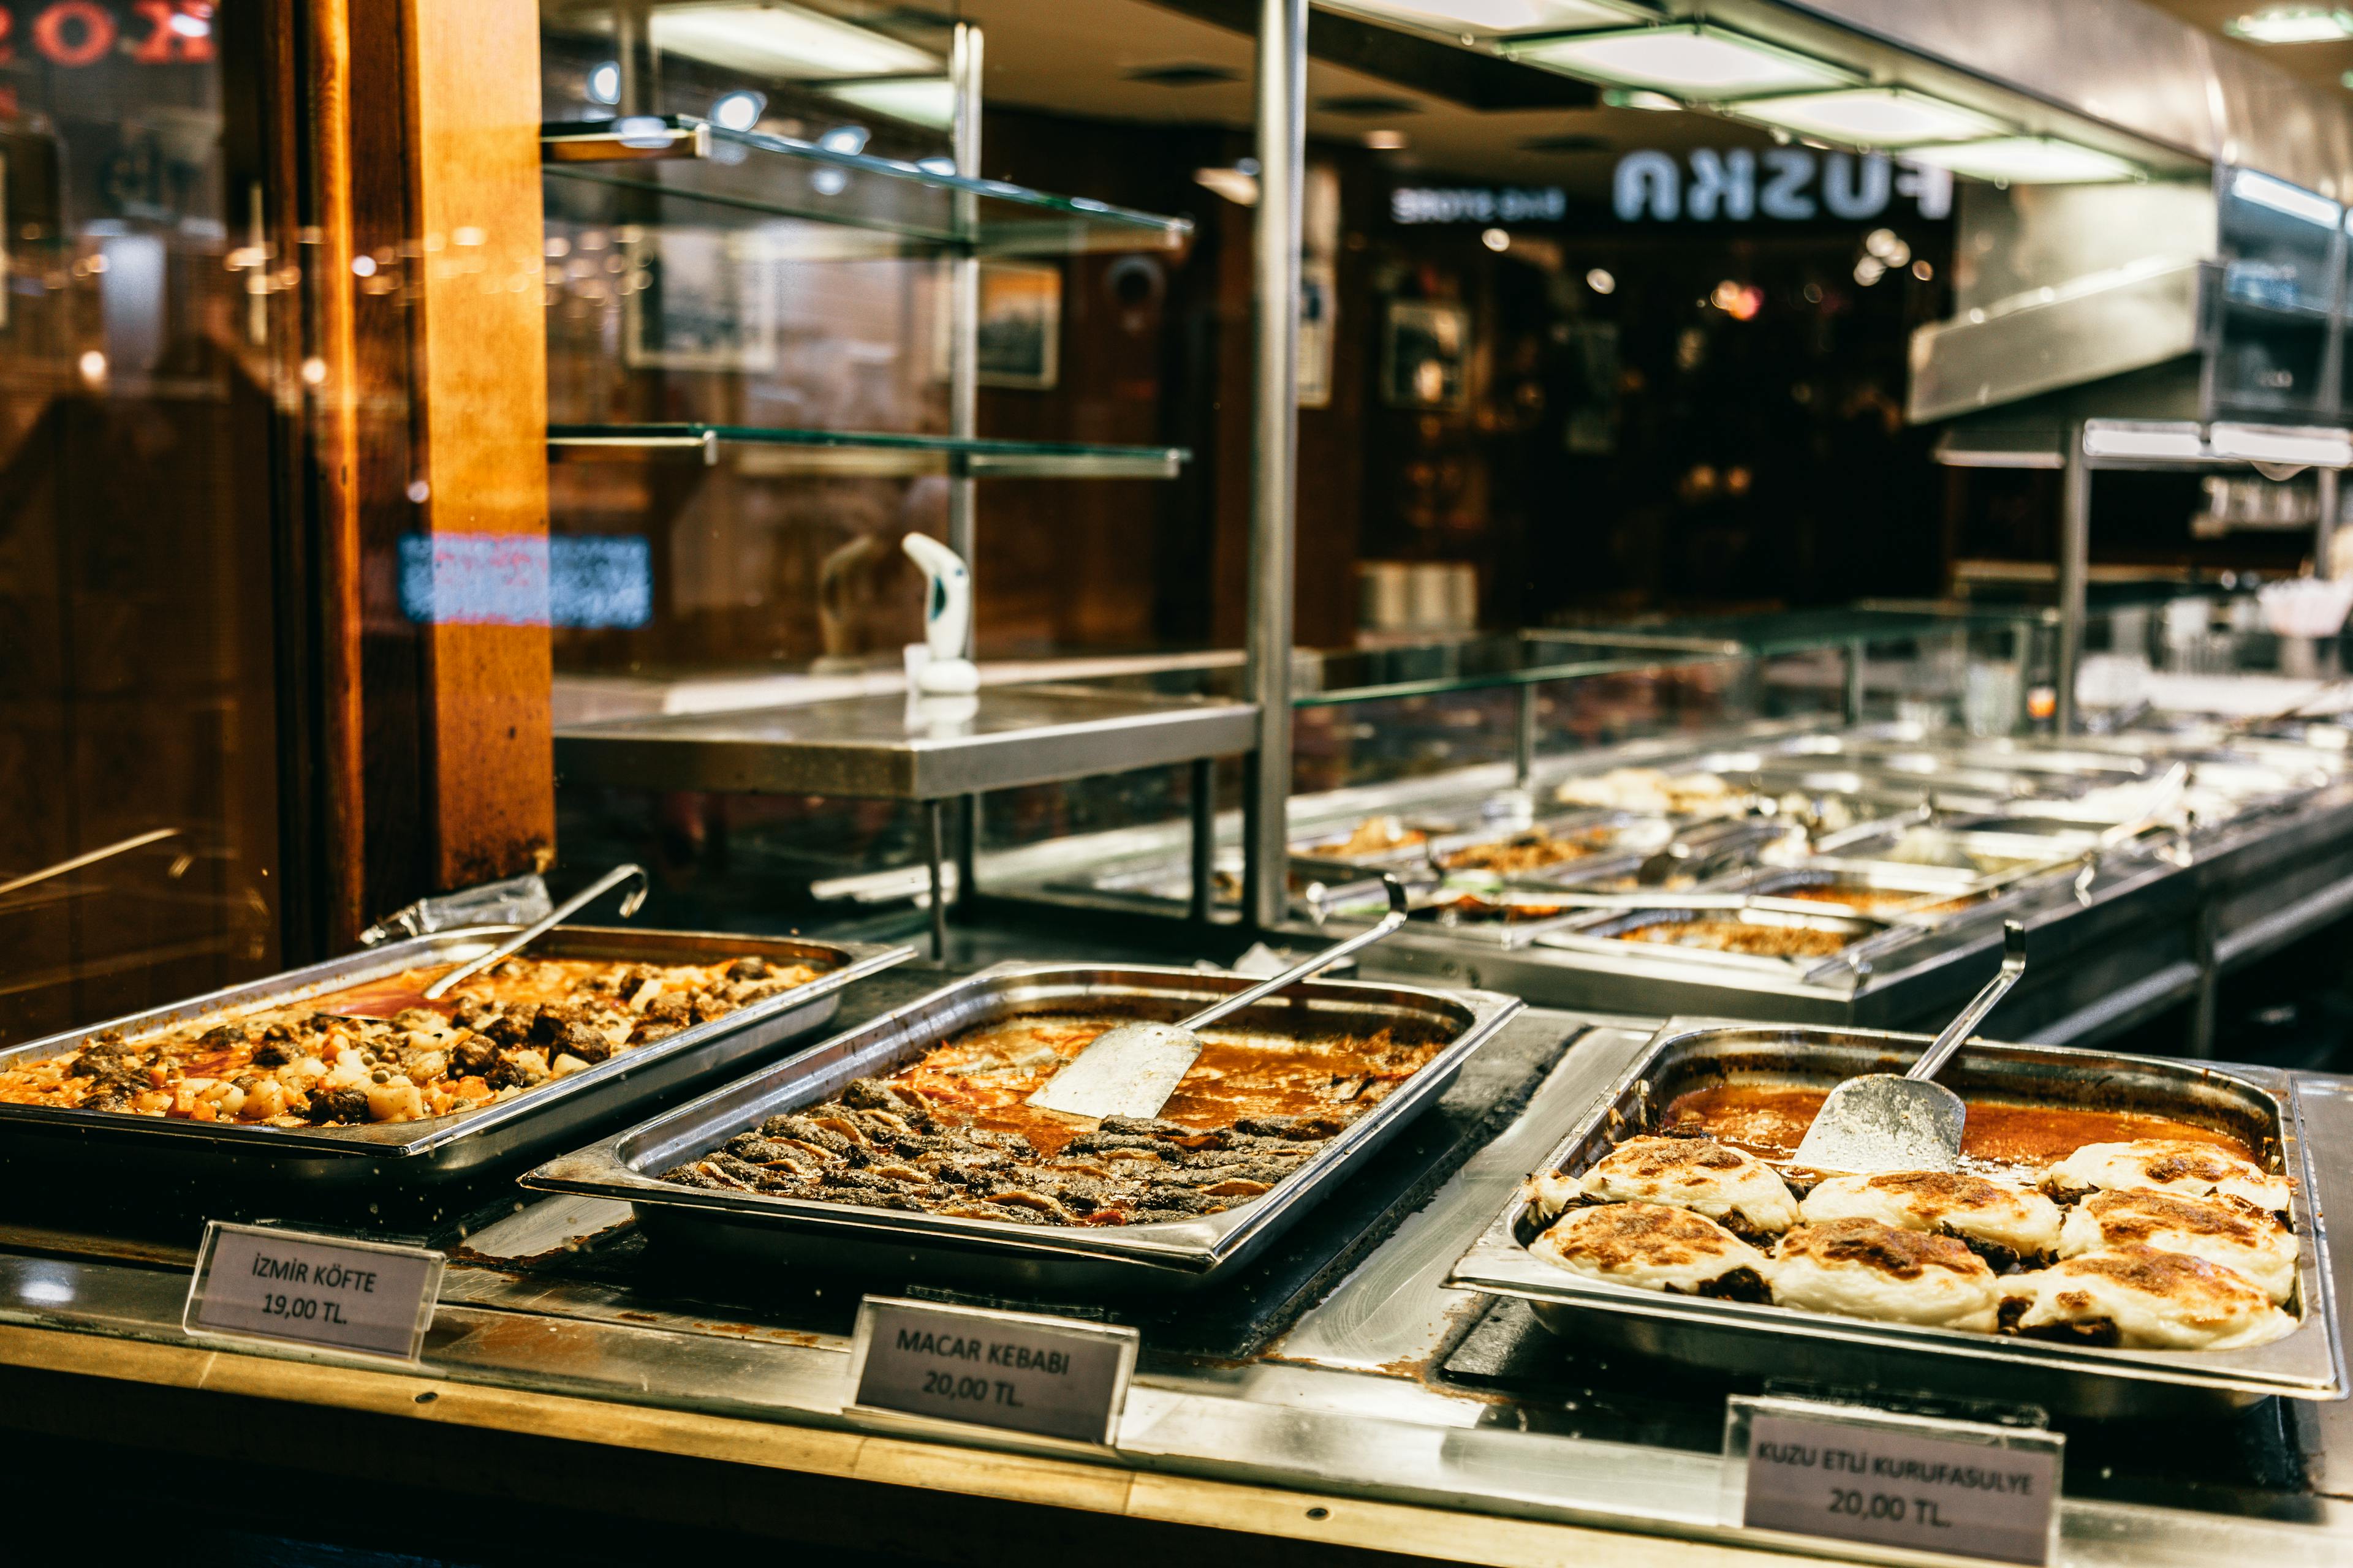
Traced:
[[722, 228], [649, 228], [628, 244], [621, 292], [631, 369], [776, 369], [776, 268]]

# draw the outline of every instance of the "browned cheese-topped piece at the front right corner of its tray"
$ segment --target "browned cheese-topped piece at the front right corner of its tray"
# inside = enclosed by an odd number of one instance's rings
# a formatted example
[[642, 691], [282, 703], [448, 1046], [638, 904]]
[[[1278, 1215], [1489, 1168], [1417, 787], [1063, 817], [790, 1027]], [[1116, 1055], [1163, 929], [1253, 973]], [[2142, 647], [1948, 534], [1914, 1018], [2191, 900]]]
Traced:
[[2231, 1269], [2134, 1241], [2005, 1279], [2002, 1295], [2026, 1300], [2019, 1333], [2113, 1324], [2122, 1349], [2245, 1349], [2297, 1331]]

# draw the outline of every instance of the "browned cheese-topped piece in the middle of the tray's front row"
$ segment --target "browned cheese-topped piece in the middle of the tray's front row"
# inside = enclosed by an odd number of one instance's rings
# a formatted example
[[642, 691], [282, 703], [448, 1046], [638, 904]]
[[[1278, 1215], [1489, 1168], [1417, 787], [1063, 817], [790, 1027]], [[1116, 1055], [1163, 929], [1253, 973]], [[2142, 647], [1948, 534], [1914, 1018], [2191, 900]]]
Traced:
[[1951, 1237], [1826, 1220], [1781, 1237], [1772, 1298], [1781, 1307], [1880, 1324], [1993, 1333], [2000, 1286], [1986, 1260]]

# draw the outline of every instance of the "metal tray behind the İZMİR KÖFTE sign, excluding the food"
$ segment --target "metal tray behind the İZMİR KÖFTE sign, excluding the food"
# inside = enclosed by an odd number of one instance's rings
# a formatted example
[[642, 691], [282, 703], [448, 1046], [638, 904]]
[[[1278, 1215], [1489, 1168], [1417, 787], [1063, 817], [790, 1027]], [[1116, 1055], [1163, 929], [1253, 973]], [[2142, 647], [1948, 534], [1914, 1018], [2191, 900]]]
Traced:
[[[407, 969], [461, 964], [513, 936], [520, 926], [461, 926], [405, 943], [367, 947], [308, 964], [266, 980], [247, 980], [207, 997], [129, 1013], [82, 1030], [66, 1030], [0, 1051], [0, 1070], [61, 1056], [101, 1030], [129, 1039], [200, 1018], [240, 1016], [311, 1001]], [[565, 1074], [482, 1110], [376, 1121], [367, 1126], [247, 1126], [174, 1121], [104, 1110], [0, 1105], [0, 1171], [26, 1166], [40, 1180], [104, 1178], [129, 1192], [186, 1182], [200, 1192], [212, 1180], [268, 1180], [282, 1201], [296, 1197], [374, 1199], [400, 1187], [438, 1187], [473, 1178], [506, 1161], [544, 1157], [595, 1124], [609, 1124], [631, 1100], [680, 1088], [734, 1067], [776, 1044], [826, 1025], [854, 980], [889, 969], [913, 947], [819, 943], [718, 931], [631, 931], [558, 926], [529, 947], [536, 959], [612, 959], [619, 964], [715, 964], [758, 957], [779, 964], [826, 966], [816, 980], [765, 997], [725, 1018], [699, 1023], [666, 1039], [614, 1051], [602, 1063]], [[21, 1178], [24, 1173], [19, 1173]]]

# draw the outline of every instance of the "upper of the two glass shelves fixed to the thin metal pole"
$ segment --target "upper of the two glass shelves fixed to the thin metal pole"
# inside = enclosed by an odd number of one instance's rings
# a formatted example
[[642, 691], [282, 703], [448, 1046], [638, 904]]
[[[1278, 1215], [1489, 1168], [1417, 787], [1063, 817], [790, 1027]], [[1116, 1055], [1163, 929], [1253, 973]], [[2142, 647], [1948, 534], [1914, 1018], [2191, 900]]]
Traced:
[[[544, 125], [539, 148], [546, 176], [565, 186], [635, 190], [755, 219], [835, 223], [889, 235], [899, 249], [1056, 256], [1179, 249], [1193, 235], [1191, 219], [835, 153], [793, 136], [732, 132], [692, 115]], [[631, 216], [654, 221], [656, 214]]]

